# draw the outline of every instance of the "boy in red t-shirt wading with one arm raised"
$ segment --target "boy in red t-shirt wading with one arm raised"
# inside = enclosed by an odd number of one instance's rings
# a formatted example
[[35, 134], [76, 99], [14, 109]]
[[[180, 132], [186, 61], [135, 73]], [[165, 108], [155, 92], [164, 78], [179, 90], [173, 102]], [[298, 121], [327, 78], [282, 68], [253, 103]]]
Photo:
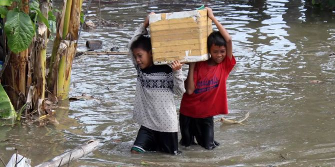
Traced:
[[189, 146], [194, 143], [195, 137], [200, 146], [211, 150], [218, 146], [214, 141], [213, 116], [228, 114], [226, 79], [236, 61], [232, 55], [229, 33], [215, 18], [211, 8], [206, 9], [218, 31], [212, 32], [207, 38], [210, 59], [189, 63], [179, 124], [181, 145]]

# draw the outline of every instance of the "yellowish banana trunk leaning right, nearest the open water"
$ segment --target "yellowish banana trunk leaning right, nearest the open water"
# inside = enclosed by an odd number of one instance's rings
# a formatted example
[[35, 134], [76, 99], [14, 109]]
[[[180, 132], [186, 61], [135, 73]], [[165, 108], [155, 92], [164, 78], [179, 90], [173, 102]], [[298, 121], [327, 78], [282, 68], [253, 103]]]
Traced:
[[59, 100], [68, 98], [82, 0], [64, 0], [63, 2], [61, 16], [57, 18], [56, 38], [47, 78], [48, 90]]

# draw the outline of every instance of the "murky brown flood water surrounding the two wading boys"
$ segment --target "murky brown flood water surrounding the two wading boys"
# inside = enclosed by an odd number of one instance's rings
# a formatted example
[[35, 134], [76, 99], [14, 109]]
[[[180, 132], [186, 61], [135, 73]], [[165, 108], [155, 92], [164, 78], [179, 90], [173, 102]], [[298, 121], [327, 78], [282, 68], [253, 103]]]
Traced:
[[[15, 147], [34, 166], [98, 139], [97, 151], [70, 166], [335, 166], [335, 55], [329, 55], [335, 52], [334, 12], [312, 10], [304, 0], [108, 0], [100, 4], [92, 0], [89, 15], [101, 13], [101, 18], [122, 26], [84, 31], [78, 49], [85, 50], [87, 39], [101, 39], [103, 50], [119, 46], [127, 51], [127, 42], [148, 11], [191, 10], [203, 3], [213, 8], [233, 40], [237, 64], [227, 82], [229, 114], [225, 118], [239, 120], [250, 112], [245, 126], [214, 123], [219, 147], [208, 151], [179, 145], [179, 156], [130, 154], [139, 128], [132, 120], [136, 73], [130, 57], [82, 55], [73, 62], [70, 96], [86, 93], [95, 99], [60, 103], [56, 127], [0, 127], [0, 157], [7, 162], [14, 151], [5, 148]], [[184, 65], [184, 77], [187, 69]], [[180, 98], [175, 97], [177, 109]]]

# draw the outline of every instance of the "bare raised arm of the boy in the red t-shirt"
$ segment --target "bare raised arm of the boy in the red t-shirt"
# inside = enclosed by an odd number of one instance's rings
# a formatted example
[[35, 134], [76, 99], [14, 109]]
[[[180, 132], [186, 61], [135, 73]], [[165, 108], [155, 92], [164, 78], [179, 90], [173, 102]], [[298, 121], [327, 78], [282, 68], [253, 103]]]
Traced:
[[208, 17], [214, 22], [214, 24], [216, 25], [218, 31], [220, 32], [220, 34], [223, 36], [227, 47], [226, 47], [226, 56], [229, 57], [229, 59], [231, 59], [232, 57], [232, 42], [231, 42], [231, 37], [228, 33], [228, 31], [223, 27], [223, 25], [218, 22], [218, 20], [215, 18], [213, 11], [211, 10], [210, 7], [205, 7], [207, 9], [207, 15]]

